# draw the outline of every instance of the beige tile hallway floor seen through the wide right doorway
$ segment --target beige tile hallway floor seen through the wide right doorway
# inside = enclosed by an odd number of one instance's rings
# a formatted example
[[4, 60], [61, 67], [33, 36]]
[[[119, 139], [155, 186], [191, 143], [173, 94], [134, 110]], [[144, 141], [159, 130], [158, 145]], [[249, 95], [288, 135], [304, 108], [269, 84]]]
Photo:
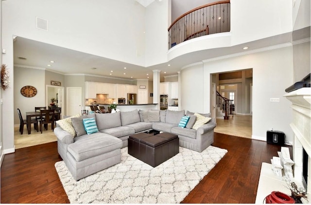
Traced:
[[229, 120], [216, 119], [217, 126], [214, 132], [229, 134], [239, 137], [252, 138], [252, 116], [238, 115], [230, 116]]

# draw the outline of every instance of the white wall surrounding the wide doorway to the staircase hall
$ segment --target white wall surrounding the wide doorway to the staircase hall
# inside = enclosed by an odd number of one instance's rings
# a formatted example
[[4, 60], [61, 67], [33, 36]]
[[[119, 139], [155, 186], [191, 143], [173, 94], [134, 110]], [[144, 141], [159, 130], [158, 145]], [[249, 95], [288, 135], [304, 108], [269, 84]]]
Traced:
[[[205, 62], [204, 65], [194, 65], [182, 70], [182, 109], [210, 112], [209, 101], [203, 100], [203, 98], [210, 98], [210, 74], [248, 68], [253, 68], [252, 137], [265, 140], [266, 131], [273, 128], [285, 132], [286, 140], [293, 141], [293, 132], [289, 127], [292, 118], [292, 112], [289, 109], [291, 103], [282, 97], [285, 89], [293, 84], [291, 46]], [[204, 79], [202, 79], [203, 76]], [[270, 98], [279, 98], [280, 102], [272, 103]]]

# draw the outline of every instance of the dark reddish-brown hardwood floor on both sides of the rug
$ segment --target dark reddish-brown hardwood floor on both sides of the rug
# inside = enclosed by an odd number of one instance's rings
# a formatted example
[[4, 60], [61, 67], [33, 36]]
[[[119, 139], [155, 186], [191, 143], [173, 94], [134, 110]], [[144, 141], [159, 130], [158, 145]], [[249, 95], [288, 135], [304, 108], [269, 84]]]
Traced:
[[[215, 133], [213, 146], [225, 157], [182, 203], [255, 203], [262, 162], [270, 163], [280, 146]], [[1, 166], [1, 203], [69, 203], [54, 164], [57, 142], [17, 149]]]

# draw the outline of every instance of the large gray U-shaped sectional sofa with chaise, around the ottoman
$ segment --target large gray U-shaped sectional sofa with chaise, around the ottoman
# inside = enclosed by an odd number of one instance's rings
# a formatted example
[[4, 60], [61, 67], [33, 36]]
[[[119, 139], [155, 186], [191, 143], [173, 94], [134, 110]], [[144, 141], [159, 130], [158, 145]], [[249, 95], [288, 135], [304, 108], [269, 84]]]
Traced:
[[[69, 122], [73, 127], [69, 130], [57, 121], [54, 134], [57, 137], [58, 153], [63, 158], [75, 180], [82, 179], [95, 172], [121, 162], [121, 148], [127, 147], [130, 135], [155, 129], [177, 134], [181, 147], [195, 151], [203, 151], [214, 141], [216, 123], [211, 119], [208, 123], [192, 129], [196, 122], [193, 112], [188, 128], [178, 127], [185, 111], [130, 111], [115, 113], [93, 113], [86, 116], [72, 117]], [[201, 114], [210, 117], [210, 114]], [[86, 134], [83, 118], [95, 118], [98, 131]], [[70, 124], [69, 123], [69, 124]], [[191, 126], [192, 125], [192, 126]], [[68, 126], [68, 127], [70, 127]]]

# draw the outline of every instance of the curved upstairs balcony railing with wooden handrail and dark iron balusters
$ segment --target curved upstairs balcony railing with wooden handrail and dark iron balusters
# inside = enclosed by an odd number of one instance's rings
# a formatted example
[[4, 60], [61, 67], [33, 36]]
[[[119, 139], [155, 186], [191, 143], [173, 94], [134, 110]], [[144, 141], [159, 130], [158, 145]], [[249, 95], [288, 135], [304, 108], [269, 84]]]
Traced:
[[169, 49], [195, 37], [230, 31], [230, 0], [192, 9], [176, 19], [168, 31]]

